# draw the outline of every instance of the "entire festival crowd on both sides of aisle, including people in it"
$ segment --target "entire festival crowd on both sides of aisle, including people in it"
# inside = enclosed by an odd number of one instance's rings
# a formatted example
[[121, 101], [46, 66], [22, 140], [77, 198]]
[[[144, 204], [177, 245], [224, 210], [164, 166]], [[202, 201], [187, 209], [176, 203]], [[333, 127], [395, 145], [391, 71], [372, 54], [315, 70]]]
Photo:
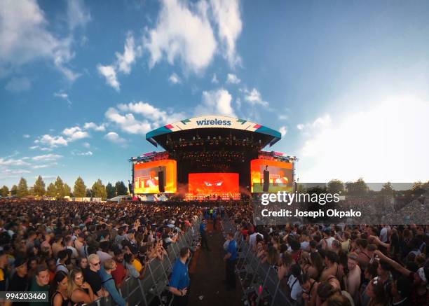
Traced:
[[[127, 305], [118, 291], [123, 281], [146, 277], [150, 260], [163, 260], [168, 245], [203, 215], [214, 228], [224, 218], [236, 226], [224, 244], [230, 287], [245, 239], [275, 268], [295, 305], [429, 305], [429, 225], [254, 225], [250, 203], [213, 207], [2, 200], [0, 291], [48, 291], [46, 305], [55, 306], [107, 296]], [[205, 224], [200, 235], [209, 249]], [[184, 248], [175, 263], [186, 277], [189, 256]], [[189, 277], [186, 283], [177, 273], [171, 292], [182, 297]]]

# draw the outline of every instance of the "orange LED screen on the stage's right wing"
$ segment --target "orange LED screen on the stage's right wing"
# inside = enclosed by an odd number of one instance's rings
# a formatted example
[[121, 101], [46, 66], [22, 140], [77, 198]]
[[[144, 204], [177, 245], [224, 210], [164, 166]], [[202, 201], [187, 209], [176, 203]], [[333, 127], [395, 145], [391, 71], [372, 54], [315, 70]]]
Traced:
[[[268, 167], [266, 167], [268, 166]], [[252, 160], [250, 162], [252, 193], [292, 192], [292, 163], [278, 160]], [[264, 188], [264, 172], [269, 184]]]

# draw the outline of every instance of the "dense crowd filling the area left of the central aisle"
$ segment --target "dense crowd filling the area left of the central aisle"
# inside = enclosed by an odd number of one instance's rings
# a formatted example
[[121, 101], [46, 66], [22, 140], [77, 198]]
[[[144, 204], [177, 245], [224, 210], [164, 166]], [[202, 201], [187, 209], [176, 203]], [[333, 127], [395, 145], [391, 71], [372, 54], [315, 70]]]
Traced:
[[197, 205], [170, 205], [1, 201], [0, 291], [48, 291], [46, 305], [108, 295], [126, 305], [123, 281], [146, 277], [200, 214]]

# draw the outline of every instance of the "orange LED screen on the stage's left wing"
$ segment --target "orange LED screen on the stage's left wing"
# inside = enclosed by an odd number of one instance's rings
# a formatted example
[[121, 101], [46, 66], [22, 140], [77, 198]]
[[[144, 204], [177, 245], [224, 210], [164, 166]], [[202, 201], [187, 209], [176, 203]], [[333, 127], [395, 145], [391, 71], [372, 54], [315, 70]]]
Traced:
[[[176, 168], [175, 160], [156, 160], [134, 165], [134, 192], [175, 193], [177, 190]], [[162, 186], [164, 191], [162, 191]]]

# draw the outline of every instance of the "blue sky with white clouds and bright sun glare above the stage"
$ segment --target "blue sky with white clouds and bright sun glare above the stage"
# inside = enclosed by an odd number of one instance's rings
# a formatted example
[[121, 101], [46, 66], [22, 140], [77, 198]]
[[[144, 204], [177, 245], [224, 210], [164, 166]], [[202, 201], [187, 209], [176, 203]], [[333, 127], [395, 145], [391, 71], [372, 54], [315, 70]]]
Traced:
[[156, 127], [282, 133], [302, 182], [429, 179], [428, 1], [0, 1], [0, 186], [128, 181]]

